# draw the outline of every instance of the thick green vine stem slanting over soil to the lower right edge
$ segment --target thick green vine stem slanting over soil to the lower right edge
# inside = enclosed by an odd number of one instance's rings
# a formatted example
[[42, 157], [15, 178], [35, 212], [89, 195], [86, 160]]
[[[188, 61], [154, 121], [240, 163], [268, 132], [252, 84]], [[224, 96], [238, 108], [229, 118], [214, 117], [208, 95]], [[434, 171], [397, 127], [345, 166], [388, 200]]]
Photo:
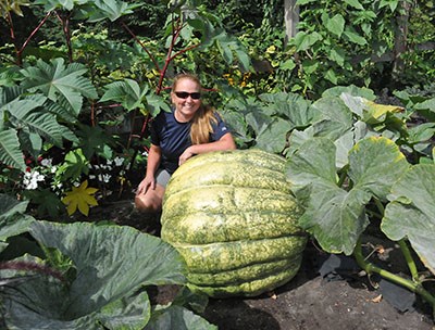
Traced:
[[355, 258], [356, 258], [358, 265], [362, 269], [364, 269], [368, 275], [373, 274], [373, 272], [378, 274], [383, 278], [385, 278], [396, 284], [405, 287], [408, 290], [421, 295], [427, 303], [430, 303], [432, 305], [432, 310], [433, 310], [433, 314], [435, 315], [435, 296], [433, 296], [428, 291], [426, 291], [423, 288], [423, 285], [421, 284], [421, 282], [418, 282], [415, 280], [413, 280], [413, 281], [407, 280], [407, 279], [405, 279], [400, 276], [397, 276], [388, 270], [385, 270], [372, 263], [368, 263], [365, 261], [365, 257], [362, 254], [361, 239], [359, 239], [357, 242], [357, 245], [353, 251], [353, 255], [355, 255]]

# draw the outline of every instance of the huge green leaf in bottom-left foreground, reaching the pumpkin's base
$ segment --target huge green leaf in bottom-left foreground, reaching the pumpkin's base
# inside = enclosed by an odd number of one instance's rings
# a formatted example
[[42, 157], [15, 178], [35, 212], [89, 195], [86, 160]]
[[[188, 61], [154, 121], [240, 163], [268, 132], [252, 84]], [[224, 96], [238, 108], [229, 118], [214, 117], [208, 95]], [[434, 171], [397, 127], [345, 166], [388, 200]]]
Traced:
[[5, 297], [11, 329], [144, 329], [150, 303], [140, 289], [185, 282], [179, 254], [132, 227], [37, 221], [29, 232], [69, 256], [76, 275], [70, 284], [47, 276], [18, 283], [25, 295]]

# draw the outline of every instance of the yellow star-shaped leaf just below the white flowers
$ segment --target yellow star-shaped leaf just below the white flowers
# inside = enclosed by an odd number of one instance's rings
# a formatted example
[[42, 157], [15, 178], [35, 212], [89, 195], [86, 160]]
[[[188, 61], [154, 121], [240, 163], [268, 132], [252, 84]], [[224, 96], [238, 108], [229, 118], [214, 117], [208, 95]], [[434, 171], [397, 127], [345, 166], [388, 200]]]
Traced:
[[79, 187], [73, 187], [73, 190], [66, 192], [66, 196], [62, 199], [62, 203], [67, 205], [66, 211], [69, 215], [74, 214], [78, 207], [78, 211], [87, 216], [89, 214], [89, 205], [98, 205], [98, 202], [94, 196], [98, 189], [87, 187], [88, 180], [85, 180]]

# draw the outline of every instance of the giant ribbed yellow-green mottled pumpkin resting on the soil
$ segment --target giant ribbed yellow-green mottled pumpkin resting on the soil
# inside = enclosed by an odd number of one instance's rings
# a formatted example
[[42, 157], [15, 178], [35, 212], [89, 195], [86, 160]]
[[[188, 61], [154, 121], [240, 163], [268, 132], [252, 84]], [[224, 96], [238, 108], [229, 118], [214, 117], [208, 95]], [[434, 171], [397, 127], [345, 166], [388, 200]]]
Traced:
[[172, 176], [163, 240], [183, 255], [192, 291], [253, 296], [299, 270], [306, 234], [284, 158], [260, 150], [206, 153]]

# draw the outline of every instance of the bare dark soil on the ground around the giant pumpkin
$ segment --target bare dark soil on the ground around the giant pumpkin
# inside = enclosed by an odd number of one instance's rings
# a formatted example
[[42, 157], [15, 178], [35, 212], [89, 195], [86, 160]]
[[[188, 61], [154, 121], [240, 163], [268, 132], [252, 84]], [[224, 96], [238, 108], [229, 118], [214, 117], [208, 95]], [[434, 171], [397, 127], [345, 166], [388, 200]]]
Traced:
[[[132, 211], [130, 201], [119, 201], [91, 213], [160, 234], [158, 220], [144, 219]], [[373, 262], [394, 272], [406, 269], [396, 261], [397, 246], [383, 245], [376, 237], [365, 241], [366, 252], [376, 252]], [[427, 304], [407, 290], [378, 280], [369, 280], [353, 258], [326, 254], [309, 242], [301, 268], [290, 282], [253, 299], [211, 299], [202, 316], [222, 330], [435, 330]], [[164, 301], [174, 290], [160, 289], [157, 300]]]

